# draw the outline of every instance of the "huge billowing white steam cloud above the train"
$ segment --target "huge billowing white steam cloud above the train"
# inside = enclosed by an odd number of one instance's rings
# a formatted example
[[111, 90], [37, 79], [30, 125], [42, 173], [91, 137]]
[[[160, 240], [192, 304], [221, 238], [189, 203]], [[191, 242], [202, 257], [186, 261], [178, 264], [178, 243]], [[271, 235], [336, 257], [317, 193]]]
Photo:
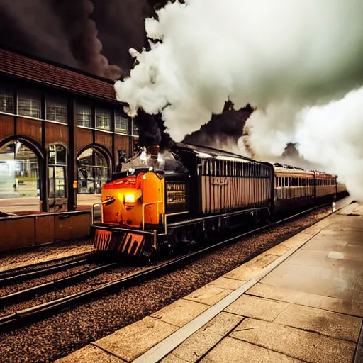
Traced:
[[250, 103], [257, 111], [247, 126], [259, 157], [297, 141], [306, 160], [340, 175], [363, 200], [362, 18], [360, 0], [168, 4], [158, 20], [145, 21], [148, 37], [162, 43], [138, 55], [116, 94], [130, 112], [162, 111], [177, 141], [221, 113], [226, 100], [236, 109]]

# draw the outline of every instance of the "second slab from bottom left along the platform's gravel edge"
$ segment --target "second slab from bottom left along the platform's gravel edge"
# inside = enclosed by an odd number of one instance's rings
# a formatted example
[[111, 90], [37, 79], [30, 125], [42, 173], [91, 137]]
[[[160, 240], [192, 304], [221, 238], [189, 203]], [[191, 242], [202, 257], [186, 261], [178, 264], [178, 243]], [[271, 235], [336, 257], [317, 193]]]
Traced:
[[107, 337], [96, 340], [93, 344], [131, 362], [177, 329], [177, 326], [147, 316]]

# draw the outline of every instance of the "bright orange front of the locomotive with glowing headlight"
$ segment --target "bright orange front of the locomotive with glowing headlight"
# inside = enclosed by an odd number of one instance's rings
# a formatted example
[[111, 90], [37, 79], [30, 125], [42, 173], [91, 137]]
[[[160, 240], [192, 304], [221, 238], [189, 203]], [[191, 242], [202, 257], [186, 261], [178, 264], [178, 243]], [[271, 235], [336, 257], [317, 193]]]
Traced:
[[94, 224], [94, 247], [140, 255], [145, 242], [152, 245], [156, 230], [162, 228], [164, 208], [164, 177], [153, 170], [134, 170], [105, 184], [101, 224]]

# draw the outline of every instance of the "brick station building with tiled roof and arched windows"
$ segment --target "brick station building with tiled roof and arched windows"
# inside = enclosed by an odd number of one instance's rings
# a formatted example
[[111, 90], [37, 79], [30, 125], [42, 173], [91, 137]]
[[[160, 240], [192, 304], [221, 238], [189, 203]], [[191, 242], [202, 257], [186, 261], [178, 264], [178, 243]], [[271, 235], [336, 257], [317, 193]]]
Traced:
[[137, 142], [112, 81], [0, 49], [0, 211], [76, 210]]

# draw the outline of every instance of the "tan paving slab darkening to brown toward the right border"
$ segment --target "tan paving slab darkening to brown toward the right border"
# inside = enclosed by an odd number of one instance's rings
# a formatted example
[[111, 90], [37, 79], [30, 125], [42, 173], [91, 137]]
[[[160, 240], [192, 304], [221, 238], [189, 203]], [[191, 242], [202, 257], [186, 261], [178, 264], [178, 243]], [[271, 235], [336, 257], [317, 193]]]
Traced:
[[337, 339], [357, 342], [362, 319], [317, 308], [309, 308], [308, 306], [291, 304], [281, 312], [274, 320], [274, 323], [313, 331]]

